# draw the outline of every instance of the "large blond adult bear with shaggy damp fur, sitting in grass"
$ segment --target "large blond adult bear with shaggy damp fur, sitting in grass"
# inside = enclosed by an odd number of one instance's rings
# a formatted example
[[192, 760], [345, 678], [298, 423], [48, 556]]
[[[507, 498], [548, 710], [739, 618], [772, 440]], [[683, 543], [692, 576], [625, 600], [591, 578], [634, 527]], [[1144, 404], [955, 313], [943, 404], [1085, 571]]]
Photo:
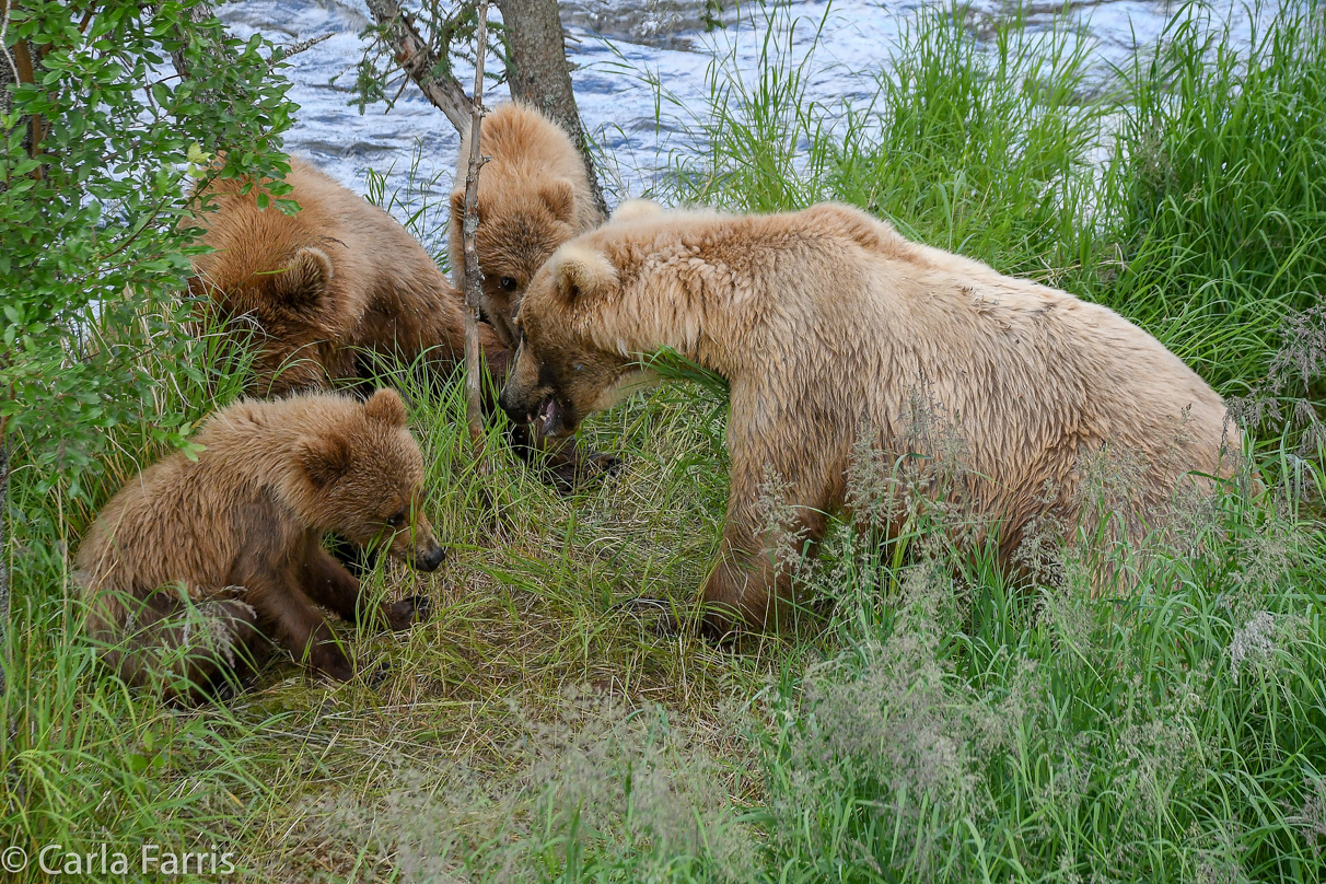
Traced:
[[761, 493], [819, 539], [854, 453], [940, 453], [910, 432], [919, 391], [964, 439], [965, 505], [996, 520], [1005, 562], [1034, 517], [1081, 514], [1079, 453], [1131, 452], [1154, 506], [1238, 449], [1220, 396], [1131, 322], [843, 205], [610, 223], [538, 272], [517, 330], [500, 402], [549, 435], [609, 407], [662, 347], [729, 382], [728, 517], [704, 586], [717, 634], [772, 622], [790, 582]]

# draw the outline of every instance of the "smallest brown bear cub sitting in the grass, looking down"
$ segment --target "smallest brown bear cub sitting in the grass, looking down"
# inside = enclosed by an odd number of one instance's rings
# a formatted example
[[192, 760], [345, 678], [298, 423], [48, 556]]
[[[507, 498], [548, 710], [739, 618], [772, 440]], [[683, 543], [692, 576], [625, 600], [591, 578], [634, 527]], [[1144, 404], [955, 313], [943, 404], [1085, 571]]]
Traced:
[[88, 634], [113, 645], [126, 681], [146, 684], [174, 657], [167, 692], [196, 694], [269, 643], [345, 681], [354, 669], [314, 603], [392, 630], [426, 614], [418, 598], [370, 608], [322, 549], [337, 531], [382, 541], [420, 570], [442, 563], [420, 508], [423, 457], [394, 391], [241, 400], [194, 441], [196, 460], [179, 452], [130, 480], [78, 550]]

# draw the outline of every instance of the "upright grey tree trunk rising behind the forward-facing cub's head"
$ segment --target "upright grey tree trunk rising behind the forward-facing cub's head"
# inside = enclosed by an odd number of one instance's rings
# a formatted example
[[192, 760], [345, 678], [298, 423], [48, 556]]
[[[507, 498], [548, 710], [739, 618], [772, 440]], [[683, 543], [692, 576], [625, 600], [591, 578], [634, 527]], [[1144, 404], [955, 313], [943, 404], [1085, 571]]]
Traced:
[[575, 107], [572, 69], [566, 62], [566, 41], [557, 0], [497, 0], [507, 25], [511, 57], [507, 60], [507, 82], [511, 97], [533, 105], [566, 130], [579, 148], [590, 192], [598, 211], [606, 217], [607, 203], [598, 183], [598, 171], [589, 150], [589, 138]]

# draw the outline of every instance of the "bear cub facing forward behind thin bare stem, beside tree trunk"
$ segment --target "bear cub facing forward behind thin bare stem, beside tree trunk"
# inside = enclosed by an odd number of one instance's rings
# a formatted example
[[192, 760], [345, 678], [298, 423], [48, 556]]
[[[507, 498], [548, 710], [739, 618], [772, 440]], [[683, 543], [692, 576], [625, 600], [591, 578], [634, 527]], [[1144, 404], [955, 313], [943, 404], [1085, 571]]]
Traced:
[[[570, 137], [528, 105], [499, 105], [484, 118], [479, 150], [488, 158], [479, 175], [475, 250], [483, 270], [483, 311], [508, 346], [511, 319], [525, 286], [558, 245], [603, 223], [589, 178]], [[460, 138], [451, 195], [451, 274], [464, 288], [465, 175], [469, 134]]]

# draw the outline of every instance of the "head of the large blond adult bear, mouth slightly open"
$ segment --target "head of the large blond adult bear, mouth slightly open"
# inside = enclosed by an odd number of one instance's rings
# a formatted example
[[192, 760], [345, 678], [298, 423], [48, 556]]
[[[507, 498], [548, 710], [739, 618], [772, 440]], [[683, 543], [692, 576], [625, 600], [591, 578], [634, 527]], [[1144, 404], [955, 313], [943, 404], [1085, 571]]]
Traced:
[[540, 268], [516, 317], [516, 366], [499, 398], [513, 421], [542, 436], [569, 436], [640, 378], [625, 341], [603, 346], [621, 307], [617, 292], [617, 268], [579, 243]]

